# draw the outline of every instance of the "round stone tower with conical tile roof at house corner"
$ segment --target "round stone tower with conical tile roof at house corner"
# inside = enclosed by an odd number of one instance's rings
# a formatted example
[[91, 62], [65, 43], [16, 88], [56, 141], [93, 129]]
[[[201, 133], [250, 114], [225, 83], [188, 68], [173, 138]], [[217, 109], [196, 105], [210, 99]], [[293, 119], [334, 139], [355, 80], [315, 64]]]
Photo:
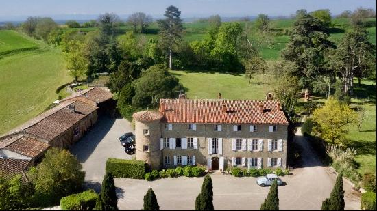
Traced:
[[151, 169], [160, 169], [160, 119], [163, 115], [158, 111], [140, 111], [132, 116], [135, 119], [136, 160], [144, 160]]

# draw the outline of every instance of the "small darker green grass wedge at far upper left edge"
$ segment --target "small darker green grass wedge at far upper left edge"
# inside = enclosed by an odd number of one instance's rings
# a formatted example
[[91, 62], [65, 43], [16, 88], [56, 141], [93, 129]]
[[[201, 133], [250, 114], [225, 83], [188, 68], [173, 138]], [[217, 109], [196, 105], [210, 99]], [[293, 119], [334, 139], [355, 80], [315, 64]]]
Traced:
[[33, 40], [11, 30], [0, 30], [0, 55], [35, 49], [38, 44]]

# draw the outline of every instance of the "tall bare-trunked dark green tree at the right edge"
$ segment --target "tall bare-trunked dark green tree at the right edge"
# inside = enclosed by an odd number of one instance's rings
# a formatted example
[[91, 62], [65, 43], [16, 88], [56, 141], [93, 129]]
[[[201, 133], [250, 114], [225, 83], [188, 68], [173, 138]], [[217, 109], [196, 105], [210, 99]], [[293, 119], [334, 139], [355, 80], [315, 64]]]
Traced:
[[369, 34], [365, 29], [356, 27], [345, 33], [332, 54], [332, 65], [342, 81], [344, 94], [353, 94], [354, 76], [361, 78], [374, 68], [375, 53], [376, 46], [369, 42]]

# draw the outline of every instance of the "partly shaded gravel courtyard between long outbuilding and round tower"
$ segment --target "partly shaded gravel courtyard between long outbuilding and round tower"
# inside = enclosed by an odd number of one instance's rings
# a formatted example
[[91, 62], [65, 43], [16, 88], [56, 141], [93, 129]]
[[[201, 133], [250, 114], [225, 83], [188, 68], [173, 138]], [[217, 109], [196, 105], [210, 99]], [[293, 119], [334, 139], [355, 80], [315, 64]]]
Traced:
[[106, 115], [79, 141], [71, 152], [77, 156], [86, 171], [86, 182], [102, 182], [108, 158], [131, 159], [123, 151], [119, 137], [125, 132], [134, 132], [126, 119], [113, 119]]

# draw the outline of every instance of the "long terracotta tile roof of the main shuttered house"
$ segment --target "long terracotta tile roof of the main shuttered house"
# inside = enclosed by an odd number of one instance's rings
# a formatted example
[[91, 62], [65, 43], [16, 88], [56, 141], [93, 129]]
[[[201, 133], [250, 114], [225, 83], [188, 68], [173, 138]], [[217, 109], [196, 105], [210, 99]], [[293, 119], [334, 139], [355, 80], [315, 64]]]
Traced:
[[288, 124], [284, 112], [278, 110], [279, 103], [279, 100], [162, 99], [160, 111], [164, 115], [162, 122], [171, 123]]

